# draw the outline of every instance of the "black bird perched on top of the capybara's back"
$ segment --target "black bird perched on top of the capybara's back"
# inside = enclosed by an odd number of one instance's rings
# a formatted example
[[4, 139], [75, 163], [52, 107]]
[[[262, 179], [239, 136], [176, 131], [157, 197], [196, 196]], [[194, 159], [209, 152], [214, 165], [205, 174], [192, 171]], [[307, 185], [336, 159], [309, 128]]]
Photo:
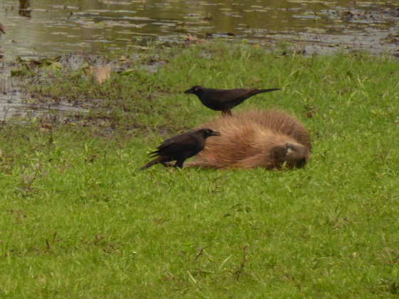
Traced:
[[236, 89], [214, 89], [202, 86], [193, 86], [185, 93], [197, 95], [202, 104], [209, 109], [222, 111], [222, 114], [232, 115], [231, 109], [258, 93], [269, 93], [281, 90], [281, 88], [258, 89], [258, 88], [236, 88]]

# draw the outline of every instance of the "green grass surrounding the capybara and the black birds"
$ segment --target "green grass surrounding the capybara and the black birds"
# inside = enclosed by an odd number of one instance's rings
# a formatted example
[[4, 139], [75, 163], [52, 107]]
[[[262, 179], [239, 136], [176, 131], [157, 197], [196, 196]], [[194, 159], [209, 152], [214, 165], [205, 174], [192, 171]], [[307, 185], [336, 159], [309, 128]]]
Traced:
[[[31, 87], [100, 99], [88, 126], [1, 125], [1, 298], [399, 295], [398, 61], [245, 44], [125, 55], [133, 72], [104, 85], [69, 69]], [[219, 115], [182, 94], [198, 84], [283, 88], [234, 111], [299, 117], [309, 165], [138, 172], [161, 140]]]

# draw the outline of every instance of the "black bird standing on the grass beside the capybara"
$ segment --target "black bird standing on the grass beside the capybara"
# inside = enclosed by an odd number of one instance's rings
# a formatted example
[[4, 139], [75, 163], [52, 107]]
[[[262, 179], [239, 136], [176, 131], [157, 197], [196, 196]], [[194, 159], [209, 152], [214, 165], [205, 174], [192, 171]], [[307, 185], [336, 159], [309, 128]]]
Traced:
[[175, 160], [175, 167], [182, 168], [186, 159], [195, 156], [204, 149], [205, 140], [210, 136], [220, 136], [220, 133], [204, 128], [172, 137], [162, 142], [155, 152], [150, 153], [152, 158], [158, 157], [145, 164], [140, 170], [147, 169], [154, 164], [164, 164]]

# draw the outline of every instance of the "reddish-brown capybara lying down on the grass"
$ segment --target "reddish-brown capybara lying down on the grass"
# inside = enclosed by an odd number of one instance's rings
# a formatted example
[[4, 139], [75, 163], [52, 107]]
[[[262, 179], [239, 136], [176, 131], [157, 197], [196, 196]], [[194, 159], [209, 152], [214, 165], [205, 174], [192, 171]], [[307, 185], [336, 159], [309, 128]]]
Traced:
[[300, 168], [309, 160], [308, 130], [296, 117], [279, 110], [252, 110], [219, 117], [204, 126], [221, 137], [207, 142], [189, 167], [266, 169]]

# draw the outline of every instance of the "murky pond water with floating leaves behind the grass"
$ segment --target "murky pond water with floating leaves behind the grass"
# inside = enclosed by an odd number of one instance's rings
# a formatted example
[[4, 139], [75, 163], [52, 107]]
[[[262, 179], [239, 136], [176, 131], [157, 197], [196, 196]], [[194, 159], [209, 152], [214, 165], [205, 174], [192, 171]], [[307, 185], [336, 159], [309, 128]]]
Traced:
[[26, 83], [11, 82], [9, 68], [18, 57], [171, 46], [187, 43], [187, 33], [192, 40], [247, 39], [261, 46], [283, 41], [306, 54], [343, 49], [399, 56], [398, 0], [4, 0], [0, 22], [6, 28], [0, 41], [0, 119], [18, 115], [21, 107], [24, 113], [45, 109], [26, 101], [19, 88]]

